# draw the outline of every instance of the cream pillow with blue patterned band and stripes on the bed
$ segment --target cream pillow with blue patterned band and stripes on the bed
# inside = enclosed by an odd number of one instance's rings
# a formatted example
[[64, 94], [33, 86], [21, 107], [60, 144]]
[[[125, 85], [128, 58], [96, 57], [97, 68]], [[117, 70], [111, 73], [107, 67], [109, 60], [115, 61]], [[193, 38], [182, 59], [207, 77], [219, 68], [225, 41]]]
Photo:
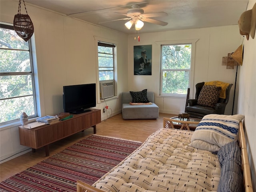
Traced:
[[[201, 144], [196, 140], [202, 140], [219, 148], [225, 144], [235, 140], [238, 134], [239, 122], [244, 118], [244, 115], [218, 115], [210, 114], [202, 118], [196, 130], [191, 137], [190, 146], [212, 151], [213, 146]], [[210, 150], [209, 150], [210, 149]]]

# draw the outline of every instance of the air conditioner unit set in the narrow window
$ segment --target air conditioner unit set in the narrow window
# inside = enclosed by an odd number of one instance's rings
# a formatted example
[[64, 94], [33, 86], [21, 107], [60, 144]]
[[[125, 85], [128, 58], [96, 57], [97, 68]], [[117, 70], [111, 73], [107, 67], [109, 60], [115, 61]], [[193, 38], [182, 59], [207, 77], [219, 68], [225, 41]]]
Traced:
[[100, 99], [114, 96], [114, 80], [100, 81]]

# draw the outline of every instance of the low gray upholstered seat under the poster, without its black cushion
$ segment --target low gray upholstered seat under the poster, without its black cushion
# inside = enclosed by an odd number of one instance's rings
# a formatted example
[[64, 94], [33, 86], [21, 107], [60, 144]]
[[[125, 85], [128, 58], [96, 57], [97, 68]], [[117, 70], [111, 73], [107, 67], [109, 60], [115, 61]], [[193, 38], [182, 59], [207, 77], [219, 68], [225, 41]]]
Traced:
[[154, 103], [154, 92], [147, 92], [150, 105], [130, 105], [132, 96], [130, 92], [122, 92], [123, 119], [156, 119], [159, 117], [159, 108]]

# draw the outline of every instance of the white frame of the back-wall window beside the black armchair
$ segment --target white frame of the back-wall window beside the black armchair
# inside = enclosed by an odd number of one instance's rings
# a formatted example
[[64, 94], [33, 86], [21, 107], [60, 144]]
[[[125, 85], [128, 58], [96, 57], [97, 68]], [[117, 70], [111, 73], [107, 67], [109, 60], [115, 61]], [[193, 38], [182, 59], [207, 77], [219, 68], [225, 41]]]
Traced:
[[[191, 63], [190, 63], [190, 72], [189, 72], [189, 83], [188, 87], [190, 88], [190, 93], [193, 93], [194, 85], [194, 63], [195, 63], [195, 50], [196, 42], [198, 39], [188, 39], [188, 40], [172, 40], [172, 41], [159, 41], [156, 44], [159, 45], [160, 52], [160, 83], [159, 83], [159, 96], [170, 97], [170, 98], [186, 98], [186, 94], [168, 94], [162, 93], [162, 46], [164, 45], [178, 45], [178, 44], [191, 44]], [[166, 71], [166, 70], [165, 70]], [[181, 70], [179, 70], [181, 71]]]

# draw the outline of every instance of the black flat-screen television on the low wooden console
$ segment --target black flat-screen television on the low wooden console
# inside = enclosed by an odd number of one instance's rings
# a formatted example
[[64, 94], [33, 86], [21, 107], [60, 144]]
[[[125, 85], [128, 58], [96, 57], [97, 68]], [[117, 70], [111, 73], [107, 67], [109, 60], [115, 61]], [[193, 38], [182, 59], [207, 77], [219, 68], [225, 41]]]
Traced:
[[96, 107], [96, 84], [63, 86], [64, 112], [80, 114]]

